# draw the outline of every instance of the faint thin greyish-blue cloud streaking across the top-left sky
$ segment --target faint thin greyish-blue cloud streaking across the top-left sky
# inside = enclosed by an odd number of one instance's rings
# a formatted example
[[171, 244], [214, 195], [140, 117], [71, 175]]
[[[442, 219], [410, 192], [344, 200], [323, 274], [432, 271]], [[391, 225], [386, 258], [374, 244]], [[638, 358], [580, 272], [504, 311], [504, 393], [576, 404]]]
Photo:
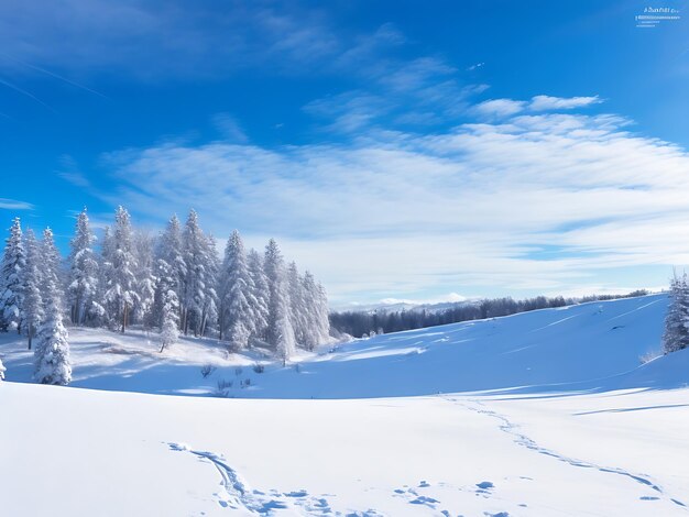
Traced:
[[306, 70], [341, 52], [342, 44], [321, 11], [293, 3], [0, 3], [0, 47], [9, 57], [0, 69], [19, 74], [30, 66], [91, 92], [66, 76], [198, 80], [247, 66]]

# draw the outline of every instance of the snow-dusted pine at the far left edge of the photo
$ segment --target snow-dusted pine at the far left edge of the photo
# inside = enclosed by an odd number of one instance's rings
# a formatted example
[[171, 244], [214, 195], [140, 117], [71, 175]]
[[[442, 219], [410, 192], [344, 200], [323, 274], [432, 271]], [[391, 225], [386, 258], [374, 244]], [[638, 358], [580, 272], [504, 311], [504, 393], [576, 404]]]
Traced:
[[12, 221], [10, 237], [4, 242], [4, 254], [0, 268], [0, 330], [17, 329], [18, 332], [21, 332], [24, 301], [21, 276], [26, 256], [19, 218], [14, 218]]

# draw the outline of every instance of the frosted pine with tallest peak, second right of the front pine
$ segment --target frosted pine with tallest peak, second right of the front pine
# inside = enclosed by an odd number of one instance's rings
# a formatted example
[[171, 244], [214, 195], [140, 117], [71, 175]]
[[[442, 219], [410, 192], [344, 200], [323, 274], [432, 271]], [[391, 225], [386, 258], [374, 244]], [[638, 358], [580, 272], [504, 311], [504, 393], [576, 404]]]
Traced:
[[127, 329], [130, 311], [138, 300], [132, 253], [132, 227], [128, 211], [121, 206], [114, 213], [114, 231], [103, 240], [105, 302], [111, 322]]

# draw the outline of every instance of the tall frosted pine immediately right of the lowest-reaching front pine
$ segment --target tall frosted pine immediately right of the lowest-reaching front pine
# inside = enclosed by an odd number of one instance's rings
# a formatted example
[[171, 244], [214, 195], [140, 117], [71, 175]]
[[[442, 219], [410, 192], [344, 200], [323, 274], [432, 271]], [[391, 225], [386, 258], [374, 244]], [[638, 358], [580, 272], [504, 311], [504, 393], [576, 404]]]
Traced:
[[77, 217], [74, 239], [69, 243], [69, 315], [77, 326], [86, 321], [96, 322], [102, 314], [102, 307], [96, 297], [98, 294], [98, 261], [94, 254], [96, 237], [90, 229], [86, 208]]

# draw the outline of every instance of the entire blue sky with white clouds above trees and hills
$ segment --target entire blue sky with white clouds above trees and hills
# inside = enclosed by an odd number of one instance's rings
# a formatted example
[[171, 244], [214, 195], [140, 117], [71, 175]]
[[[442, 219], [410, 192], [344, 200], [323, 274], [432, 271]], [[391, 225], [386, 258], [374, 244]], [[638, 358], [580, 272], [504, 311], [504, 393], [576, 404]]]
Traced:
[[[0, 6], [0, 222], [192, 206], [335, 305], [657, 287], [689, 263], [689, 31], [648, 3]], [[656, 7], [655, 4], [653, 7]]]

